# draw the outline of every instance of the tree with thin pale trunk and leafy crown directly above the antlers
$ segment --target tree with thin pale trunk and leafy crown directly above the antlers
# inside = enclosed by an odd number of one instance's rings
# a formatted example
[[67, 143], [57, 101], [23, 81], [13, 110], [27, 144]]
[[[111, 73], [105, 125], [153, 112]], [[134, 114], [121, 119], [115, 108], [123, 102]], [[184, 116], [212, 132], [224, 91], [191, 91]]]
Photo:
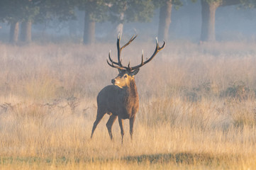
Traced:
[[117, 23], [114, 34], [123, 32], [123, 24], [128, 22], [149, 22], [154, 14], [151, 0], [118, 0], [111, 2], [110, 18]]

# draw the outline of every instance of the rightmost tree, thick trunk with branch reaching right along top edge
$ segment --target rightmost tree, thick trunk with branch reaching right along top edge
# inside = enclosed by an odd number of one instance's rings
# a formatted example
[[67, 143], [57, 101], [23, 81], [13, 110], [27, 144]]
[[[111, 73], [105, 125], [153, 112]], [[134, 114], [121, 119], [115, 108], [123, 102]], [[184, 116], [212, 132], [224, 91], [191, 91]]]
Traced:
[[215, 13], [220, 6], [240, 4], [240, 0], [201, 0], [201, 41], [215, 41]]

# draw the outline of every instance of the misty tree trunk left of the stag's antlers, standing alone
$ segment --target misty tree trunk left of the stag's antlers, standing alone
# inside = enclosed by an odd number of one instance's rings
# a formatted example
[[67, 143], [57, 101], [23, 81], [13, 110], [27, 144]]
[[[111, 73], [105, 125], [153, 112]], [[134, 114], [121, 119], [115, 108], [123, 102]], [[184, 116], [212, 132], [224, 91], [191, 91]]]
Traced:
[[89, 13], [84, 16], [84, 44], [94, 44], [95, 42], [95, 21], [89, 18]]

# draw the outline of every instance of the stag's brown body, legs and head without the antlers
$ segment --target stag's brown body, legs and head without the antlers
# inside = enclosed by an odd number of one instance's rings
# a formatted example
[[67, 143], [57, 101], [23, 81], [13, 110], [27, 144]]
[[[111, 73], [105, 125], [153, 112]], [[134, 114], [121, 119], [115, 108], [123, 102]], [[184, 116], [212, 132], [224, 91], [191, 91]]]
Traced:
[[123, 142], [123, 119], [130, 120], [130, 138], [132, 139], [135, 114], [138, 112], [139, 108], [139, 97], [134, 80], [134, 72], [123, 70], [112, 82], [113, 85], [104, 87], [97, 96], [98, 111], [91, 131], [91, 137], [96, 126], [104, 115], [108, 113], [108, 115], [111, 116], [106, 123], [106, 127], [108, 128], [111, 140], [113, 139], [112, 125], [116, 118], [118, 118]]

